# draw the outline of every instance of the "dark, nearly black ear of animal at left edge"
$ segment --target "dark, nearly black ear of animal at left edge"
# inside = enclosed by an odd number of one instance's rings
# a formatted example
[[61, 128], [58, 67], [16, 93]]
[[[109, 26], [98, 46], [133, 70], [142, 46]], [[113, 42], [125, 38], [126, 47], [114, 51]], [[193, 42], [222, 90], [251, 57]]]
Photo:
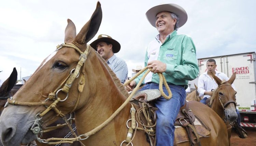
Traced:
[[[13, 71], [9, 76], [9, 78], [6, 79], [2, 84], [2, 86], [0, 87], [0, 94], [4, 95], [13, 88], [13, 86], [16, 84], [17, 76], [18, 76], [17, 70], [16, 68], [13, 68]], [[0, 96], [3, 96], [3, 95], [0, 95]]]

